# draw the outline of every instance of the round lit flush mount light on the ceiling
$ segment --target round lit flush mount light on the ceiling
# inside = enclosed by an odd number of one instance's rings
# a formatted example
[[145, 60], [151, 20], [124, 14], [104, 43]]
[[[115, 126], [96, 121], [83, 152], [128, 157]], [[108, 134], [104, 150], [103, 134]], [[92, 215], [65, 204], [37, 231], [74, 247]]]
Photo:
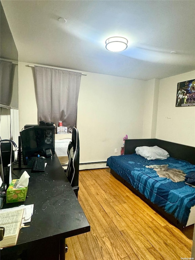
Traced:
[[122, 52], [127, 48], [127, 39], [123, 37], [110, 37], [106, 40], [106, 49], [110, 52]]

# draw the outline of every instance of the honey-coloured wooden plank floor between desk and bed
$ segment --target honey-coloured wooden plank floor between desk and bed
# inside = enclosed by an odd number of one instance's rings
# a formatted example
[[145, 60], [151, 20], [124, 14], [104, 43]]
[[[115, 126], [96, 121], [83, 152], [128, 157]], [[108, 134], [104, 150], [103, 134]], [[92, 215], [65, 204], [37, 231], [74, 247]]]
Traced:
[[66, 239], [66, 260], [153, 260], [191, 257], [193, 225], [180, 231], [108, 168], [80, 171], [78, 200], [91, 231]]

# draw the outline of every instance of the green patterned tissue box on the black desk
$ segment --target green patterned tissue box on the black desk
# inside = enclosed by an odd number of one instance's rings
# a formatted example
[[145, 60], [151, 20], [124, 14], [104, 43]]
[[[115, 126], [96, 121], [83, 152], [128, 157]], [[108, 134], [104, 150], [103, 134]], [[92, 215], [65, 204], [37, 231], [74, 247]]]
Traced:
[[27, 197], [28, 187], [14, 189], [16, 181], [19, 179], [12, 180], [7, 192], [6, 192], [6, 203], [25, 201]]

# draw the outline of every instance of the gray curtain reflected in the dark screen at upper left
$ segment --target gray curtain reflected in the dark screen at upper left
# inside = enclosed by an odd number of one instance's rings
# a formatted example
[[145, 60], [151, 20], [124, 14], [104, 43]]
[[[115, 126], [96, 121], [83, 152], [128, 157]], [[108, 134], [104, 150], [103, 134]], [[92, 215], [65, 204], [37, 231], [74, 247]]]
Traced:
[[12, 100], [12, 62], [1, 60], [0, 103], [9, 106]]

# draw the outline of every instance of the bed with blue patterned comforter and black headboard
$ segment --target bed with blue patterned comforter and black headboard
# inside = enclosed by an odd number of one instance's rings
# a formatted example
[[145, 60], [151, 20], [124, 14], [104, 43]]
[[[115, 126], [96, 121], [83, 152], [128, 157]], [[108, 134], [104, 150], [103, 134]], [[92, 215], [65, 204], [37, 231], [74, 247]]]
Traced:
[[[136, 147], [155, 145], [168, 151], [170, 157], [147, 160], [135, 153]], [[160, 177], [155, 167], [165, 165], [177, 172], [182, 170], [183, 176], [195, 171], [195, 148], [159, 139], [127, 139], [124, 155], [111, 156], [107, 160], [107, 166], [115, 178], [182, 229], [195, 220], [195, 188], [185, 184], [185, 178], [174, 182], [174, 179]]]

